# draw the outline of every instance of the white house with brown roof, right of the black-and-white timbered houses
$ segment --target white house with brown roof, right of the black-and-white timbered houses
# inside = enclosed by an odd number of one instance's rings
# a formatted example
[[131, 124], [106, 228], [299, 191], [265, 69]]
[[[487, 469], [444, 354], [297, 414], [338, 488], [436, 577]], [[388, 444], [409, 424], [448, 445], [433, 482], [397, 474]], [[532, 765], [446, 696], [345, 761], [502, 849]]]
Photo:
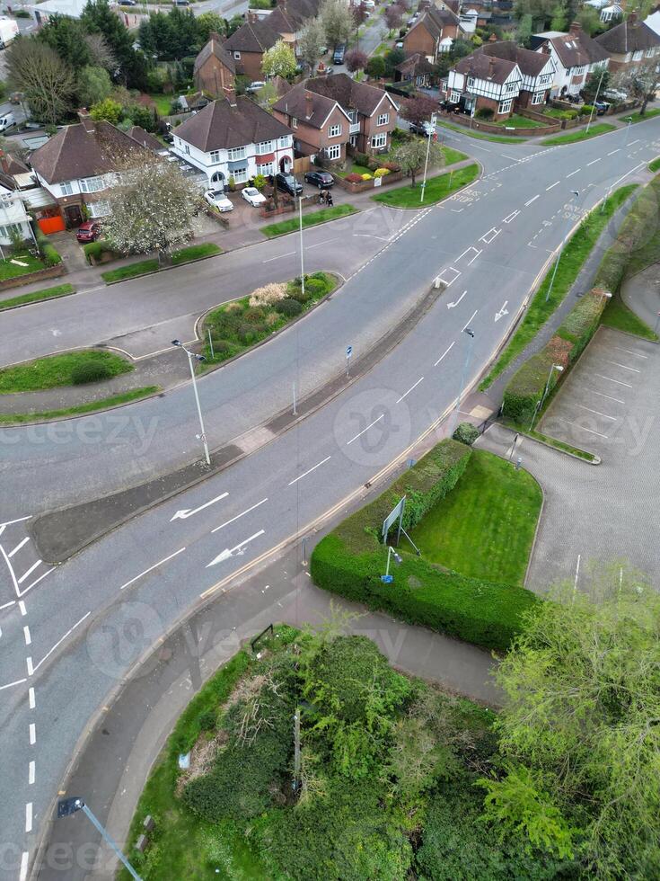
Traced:
[[606, 67], [609, 61], [605, 49], [585, 34], [578, 22], [571, 24], [568, 33], [546, 31], [535, 34], [532, 49], [550, 53], [555, 62], [557, 69], [550, 90], [552, 98], [579, 94], [594, 69]]

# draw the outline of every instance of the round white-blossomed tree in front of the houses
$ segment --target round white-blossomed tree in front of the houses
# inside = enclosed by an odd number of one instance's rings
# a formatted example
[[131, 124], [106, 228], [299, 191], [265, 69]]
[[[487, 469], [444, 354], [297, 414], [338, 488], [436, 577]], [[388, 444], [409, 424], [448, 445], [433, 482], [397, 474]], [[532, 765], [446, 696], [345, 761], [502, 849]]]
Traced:
[[117, 167], [117, 182], [106, 197], [105, 236], [122, 254], [155, 251], [159, 263], [168, 263], [193, 235], [201, 194], [179, 168], [146, 151], [123, 157]]

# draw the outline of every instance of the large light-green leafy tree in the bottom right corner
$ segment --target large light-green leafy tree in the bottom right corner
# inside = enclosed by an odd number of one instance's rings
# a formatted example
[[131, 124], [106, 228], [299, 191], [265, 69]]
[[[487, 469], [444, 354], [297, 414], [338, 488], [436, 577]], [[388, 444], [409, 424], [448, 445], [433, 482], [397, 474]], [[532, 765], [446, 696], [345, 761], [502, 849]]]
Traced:
[[499, 667], [486, 816], [588, 877], [658, 877], [660, 598], [618, 566], [595, 584], [596, 600], [569, 585], [535, 607]]

